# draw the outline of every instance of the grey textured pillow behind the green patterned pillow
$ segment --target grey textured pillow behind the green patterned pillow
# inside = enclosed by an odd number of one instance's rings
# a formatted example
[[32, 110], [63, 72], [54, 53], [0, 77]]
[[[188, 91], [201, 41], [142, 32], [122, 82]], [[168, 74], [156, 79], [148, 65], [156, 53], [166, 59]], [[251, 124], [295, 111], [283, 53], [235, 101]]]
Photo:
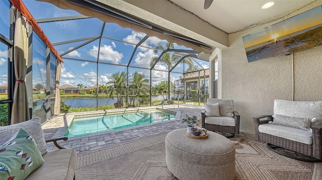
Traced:
[[34, 137], [34, 140], [37, 144], [38, 149], [41, 152], [41, 155], [48, 151], [47, 145], [45, 142], [44, 132], [41, 128], [40, 119], [34, 117], [28, 121], [9, 125], [9, 126], [0, 126], [0, 144], [6, 142], [10, 137], [12, 137], [15, 132], [20, 128], [24, 129], [31, 136]]

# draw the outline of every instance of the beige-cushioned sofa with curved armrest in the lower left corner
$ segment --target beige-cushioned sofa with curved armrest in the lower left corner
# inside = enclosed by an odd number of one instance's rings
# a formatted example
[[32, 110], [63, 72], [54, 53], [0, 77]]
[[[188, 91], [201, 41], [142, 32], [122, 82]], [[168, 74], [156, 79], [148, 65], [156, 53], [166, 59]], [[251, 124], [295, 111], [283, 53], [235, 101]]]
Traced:
[[[28, 132], [35, 140], [39, 151], [42, 154], [44, 163], [31, 172], [27, 178], [32, 180], [43, 179], [74, 179], [77, 155], [74, 149], [60, 149], [57, 140], [67, 140], [67, 137], [44, 139], [39, 118], [0, 127], [0, 145], [10, 139], [20, 128]], [[54, 142], [59, 149], [48, 151], [46, 142]]]

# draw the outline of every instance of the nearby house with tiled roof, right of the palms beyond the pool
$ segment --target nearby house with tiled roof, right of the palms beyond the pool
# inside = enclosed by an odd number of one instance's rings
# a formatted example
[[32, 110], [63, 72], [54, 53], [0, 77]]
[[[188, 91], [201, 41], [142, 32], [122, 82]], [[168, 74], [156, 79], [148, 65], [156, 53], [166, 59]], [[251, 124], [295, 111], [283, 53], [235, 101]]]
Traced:
[[[204, 74], [206, 75], [205, 79]], [[191, 90], [200, 90], [203, 84], [205, 84], [205, 94], [209, 94], [209, 69], [206, 69], [205, 71], [200, 71], [200, 83], [199, 72], [189, 74], [185, 76], [185, 78], [182, 77], [181, 80], [183, 79], [185, 79], [184, 94], [187, 94], [186, 99], [191, 99]], [[206, 80], [205, 83], [204, 80]]]

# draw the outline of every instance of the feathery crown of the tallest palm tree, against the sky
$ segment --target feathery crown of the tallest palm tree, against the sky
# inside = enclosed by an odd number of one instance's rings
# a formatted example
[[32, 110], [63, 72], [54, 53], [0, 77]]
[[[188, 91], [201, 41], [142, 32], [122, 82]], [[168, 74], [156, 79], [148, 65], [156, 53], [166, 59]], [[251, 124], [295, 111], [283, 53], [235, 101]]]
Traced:
[[[175, 44], [167, 41], [165, 46], [160, 45], [160, 44], [156, 45], [156, 47], [155, 47], [156, 50], [154, 50], [154, 53], [156, 54], [157, 50], [166, 51], [167, 49], [174, 49], [174, 48], [175, 48]], [[181, 55], [181, 56], [179, 56], [179, 55]], [[168, 69], [171, 69], [173, 67], [173, 65], [176, 64], [184, 55], [185, 54], [183, 54], [183, 53], [176, 53], [176, 54], [166, 53], [160, 58], [160, 60], [158, 62], [167, 65]], [[155, 63], [157, 58], [158, 58], [158, 56], [154, 56], [151, 59], [150, 67], [153, 66], [153, 64]], [[188, 70], [191, 71], [194, 69], [194, 67], [190, 63], [186, 62], [187, 60], [192, 63], [192, 59], [190, 57], [188, 57], [185, 60], [185, 63], [189, 65]], [[182, 61], [182, 63], [183, 63], [183, 61]]]

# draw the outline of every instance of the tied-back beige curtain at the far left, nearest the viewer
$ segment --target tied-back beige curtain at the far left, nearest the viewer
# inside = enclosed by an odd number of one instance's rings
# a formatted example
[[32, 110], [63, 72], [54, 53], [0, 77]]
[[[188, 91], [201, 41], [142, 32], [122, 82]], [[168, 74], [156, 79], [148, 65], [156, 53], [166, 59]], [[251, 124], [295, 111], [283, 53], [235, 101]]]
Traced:
[[28, 65], [29, 23], [16, 8], [14, 11], [16, 18], [14, 35], [14, 67], [16, 84], [14, 90], [11, 124], [24, 122], [30, 119], [25, 82]]

